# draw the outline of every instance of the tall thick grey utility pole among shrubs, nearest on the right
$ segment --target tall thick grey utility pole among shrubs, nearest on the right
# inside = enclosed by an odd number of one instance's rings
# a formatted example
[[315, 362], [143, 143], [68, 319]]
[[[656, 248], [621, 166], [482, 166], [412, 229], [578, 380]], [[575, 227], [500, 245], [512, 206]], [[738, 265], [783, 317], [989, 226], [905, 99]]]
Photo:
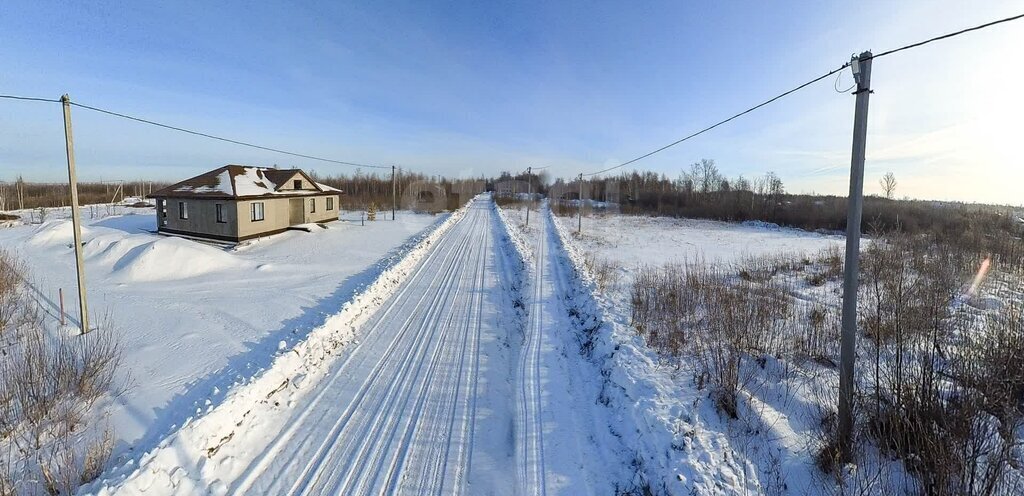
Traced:
[[867, 100], [871, 94], [871, 52], [850, 61], [857, 81], [850, 161], [850, 197], [846, 217], [846, 266], [843, 274], [843, 338], [839, 376], [839, 448], [849, 460], [853, 442], [853, 366], [857, 354], [857, 275], [860, 262], [860, 221], [864, 200], [864, 148], [867, 140]]

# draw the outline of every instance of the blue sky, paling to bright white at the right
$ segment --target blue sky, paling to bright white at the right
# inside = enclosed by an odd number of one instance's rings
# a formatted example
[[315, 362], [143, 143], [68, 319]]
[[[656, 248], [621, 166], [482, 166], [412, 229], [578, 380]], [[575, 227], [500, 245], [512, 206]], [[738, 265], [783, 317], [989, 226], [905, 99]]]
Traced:
[[[980, 5], [979, 5], [980, 4]], [[884, 50], [1024, 1], [76, 2], [0, 7], [0, 93], [73, 99], [353, 162], [571, 176], [614, 165]], [[1024, 22], [879, 59], [866, 190], [1024, 203]], [[715, 159], [845, 194], [849, 74], [635, 164]], [[86, 179], [178, 179], [224, 163], [348, 169], [75, 109]], [[0, 100], [0, 179], [65, 176], [59, 107]]]

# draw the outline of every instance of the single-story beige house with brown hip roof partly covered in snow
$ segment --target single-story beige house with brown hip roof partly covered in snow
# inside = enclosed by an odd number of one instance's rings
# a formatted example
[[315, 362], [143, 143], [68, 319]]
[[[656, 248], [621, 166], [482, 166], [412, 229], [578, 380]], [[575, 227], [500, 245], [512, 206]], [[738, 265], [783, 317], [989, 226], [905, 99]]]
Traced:
[[337, 220], [339, 195], [300, 169], [225, 165], [150, 196], [159, 233], [239, 242]]

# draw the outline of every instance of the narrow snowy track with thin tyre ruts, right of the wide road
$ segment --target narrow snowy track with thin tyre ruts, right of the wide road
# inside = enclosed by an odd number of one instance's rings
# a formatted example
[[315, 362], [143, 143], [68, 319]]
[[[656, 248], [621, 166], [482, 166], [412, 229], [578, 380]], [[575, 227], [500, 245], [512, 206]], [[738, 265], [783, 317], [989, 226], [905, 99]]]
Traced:
[[516, 487], [519, 494], [609, 494], [629, 460], [596, 405], [600, 375], [580, 358], [553, 219], [546, 208], [538, 217], [517, 368]]

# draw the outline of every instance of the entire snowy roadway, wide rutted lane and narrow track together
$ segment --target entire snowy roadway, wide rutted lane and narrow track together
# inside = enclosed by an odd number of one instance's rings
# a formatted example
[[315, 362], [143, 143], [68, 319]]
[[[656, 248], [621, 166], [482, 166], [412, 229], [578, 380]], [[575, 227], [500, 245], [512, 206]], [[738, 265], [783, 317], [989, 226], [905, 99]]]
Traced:
[[[178, 455], [152, 457], [100, 492], [613, 492], [622, 470], [606, 463], [629, 460], [598, 445], [608, 438], [593, 431], [607, 430], [602, 407], [573, 397], [567, 361], [578, 355], [559, 337], [569, 332], [556, 294], [564, 278], [546, 228], [524, 312], [522, 266], [494, 204], [478, 198], [272, 421], [225, 427], [233, 433], [215, 450], [170, 446]], [[209, 459], [184, 464], [199, 470], [168, 478], [176, 458], [197, 453]]]

